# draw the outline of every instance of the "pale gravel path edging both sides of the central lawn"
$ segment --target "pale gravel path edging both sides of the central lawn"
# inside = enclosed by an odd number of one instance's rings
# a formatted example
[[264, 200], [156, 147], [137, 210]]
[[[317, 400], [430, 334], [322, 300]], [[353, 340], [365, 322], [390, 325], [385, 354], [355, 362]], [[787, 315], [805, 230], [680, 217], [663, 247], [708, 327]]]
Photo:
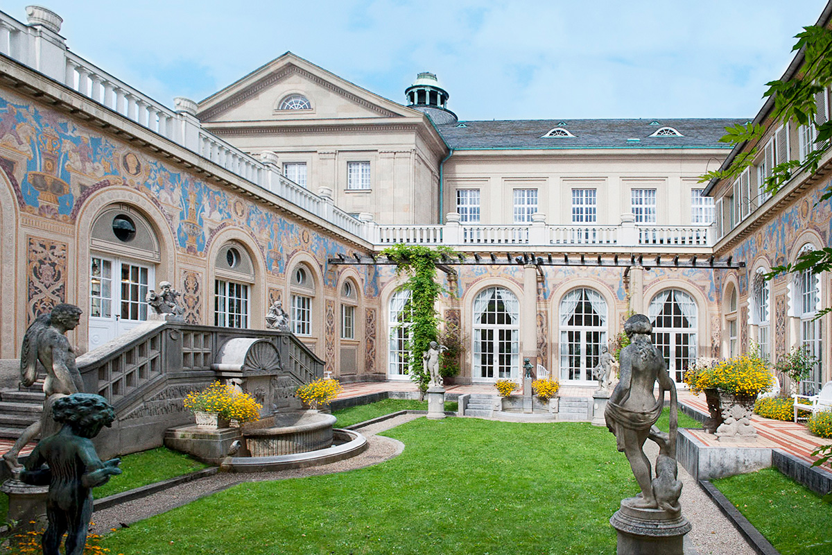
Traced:
[[[402, 453], [404, 445], [395, 439], [376, 434], [420, 417], [419, 414], [404, 414], [360, 429], [361, 434], [364, 434], [364, 437], [367, 438], [369, 448], [364, 453], [344, 461], [317, 467], [294, 468], [266, 473], [216, 473], [214, 476], [184, 483], [146, 498], [96, 511], [92, 515], [92, 520], [95, 523], [92, 531], [107, 533], [111, 528], [121, 528], [122, 524], [136, 523], [144, 518], [169, 511], [171, 508], [191, 503], [191, 501], [211, 493], [230, 488], [237, 483], [319, 476], [362, 468], [389, 460]], [[647, 442], [646, 451], [651, 460], [655, 460], [658, 453], [658, 448], [654, 449], [654, 447], [655, 444], [650, 441]], [[708, 498], [699, 484], [691, 478], [691, 475], [681, 465], [679, 466], [679, 479], [684, 483], [680, 499], [682, 514], [693, 525], [693, 529], [687, 535], [687, 540], [696, 548], [698, 555], [755, 555], [755, 550], [750, 547], [745, 538], [740, 536], [733, 523], [720, 512], [716, 504], [711, 501], [711, 498]]]

